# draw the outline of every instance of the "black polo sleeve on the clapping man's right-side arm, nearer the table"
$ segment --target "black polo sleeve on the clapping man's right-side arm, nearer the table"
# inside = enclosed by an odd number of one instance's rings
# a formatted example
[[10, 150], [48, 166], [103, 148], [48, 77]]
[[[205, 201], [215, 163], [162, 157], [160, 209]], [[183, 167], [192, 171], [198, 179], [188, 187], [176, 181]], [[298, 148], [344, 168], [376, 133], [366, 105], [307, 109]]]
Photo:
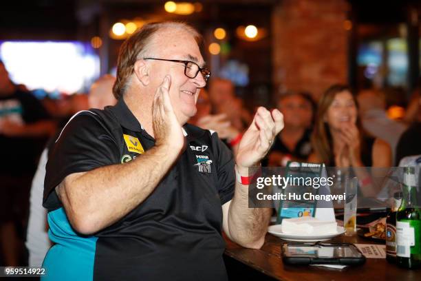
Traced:
[[215, 143], [215, 151], [218, 152], [218, 192], [221, 205], [233, 199], [235, 190], [235, 161], [233, 152], [219, 139], [216, 132], [212, 134], [212, 141]]

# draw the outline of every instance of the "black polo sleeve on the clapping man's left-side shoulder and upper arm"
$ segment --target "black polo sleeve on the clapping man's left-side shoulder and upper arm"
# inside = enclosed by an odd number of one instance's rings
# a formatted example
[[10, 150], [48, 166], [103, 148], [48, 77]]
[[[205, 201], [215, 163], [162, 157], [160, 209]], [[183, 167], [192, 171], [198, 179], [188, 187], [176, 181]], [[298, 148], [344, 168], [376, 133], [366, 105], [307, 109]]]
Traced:
[[[43, 206], [61, 207], [55, 187], [69, 174], [120, 163], [116, 140], [94, 112], [80, 112], [52, 145], [46, 166]], [[53, 192], [54, 191], [54, 192]]]

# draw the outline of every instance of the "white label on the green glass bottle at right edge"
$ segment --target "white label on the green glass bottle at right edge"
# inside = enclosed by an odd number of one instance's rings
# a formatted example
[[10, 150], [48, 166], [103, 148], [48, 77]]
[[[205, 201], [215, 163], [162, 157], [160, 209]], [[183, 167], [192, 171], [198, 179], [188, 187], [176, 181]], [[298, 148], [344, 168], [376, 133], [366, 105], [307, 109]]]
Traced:
[[421, 221], [401, 220], [396, 222], [396, 256], [411, 258], [421, 253]]

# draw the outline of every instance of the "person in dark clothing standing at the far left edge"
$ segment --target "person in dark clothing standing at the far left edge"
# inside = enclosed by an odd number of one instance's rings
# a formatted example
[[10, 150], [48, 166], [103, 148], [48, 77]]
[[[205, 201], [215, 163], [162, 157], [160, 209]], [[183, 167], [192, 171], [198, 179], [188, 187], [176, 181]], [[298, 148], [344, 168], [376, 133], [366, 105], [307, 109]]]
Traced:
[[19, 90], [0, 61], [0, 243], [6, 266], [23, 260], [23, 229], [36, 163], [56, 124], [41, 103]]

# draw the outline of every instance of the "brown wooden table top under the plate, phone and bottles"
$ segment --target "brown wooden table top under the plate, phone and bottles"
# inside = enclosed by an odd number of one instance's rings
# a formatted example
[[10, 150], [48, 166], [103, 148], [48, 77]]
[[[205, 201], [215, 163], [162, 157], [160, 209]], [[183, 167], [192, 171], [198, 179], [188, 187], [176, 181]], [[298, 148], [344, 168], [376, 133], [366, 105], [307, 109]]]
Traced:
[[[347, 267], [342, 270], [283, 264], [281, 244], [287, 241], [281, 240], [281, 238], [272, 236], [269, 233], [266, 235], [265, 244], [259, 250], [246, 249], [226, 237], [225, 240], [226, 256], [277, 280], [421, 280], [421, 269], [401, 269], [394, 264], [389, 264], [386, 259], [367, 258], [365, 264], [362, 266]], [[338, 236], [326, 242], [376, 244], [358, 236], [345, 235]]]

